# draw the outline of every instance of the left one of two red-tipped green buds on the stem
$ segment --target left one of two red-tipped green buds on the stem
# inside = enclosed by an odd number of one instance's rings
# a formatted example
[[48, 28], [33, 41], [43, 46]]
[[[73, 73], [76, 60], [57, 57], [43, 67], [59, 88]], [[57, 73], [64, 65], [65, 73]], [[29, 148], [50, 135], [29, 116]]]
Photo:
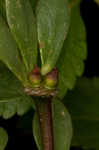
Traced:
[[40, 72], [40, 68], [37, 65], [34, 66], [34, 69], [29, 74], [28, 79], [31, 82], [33, 87], [40, 87], [41, 72]]

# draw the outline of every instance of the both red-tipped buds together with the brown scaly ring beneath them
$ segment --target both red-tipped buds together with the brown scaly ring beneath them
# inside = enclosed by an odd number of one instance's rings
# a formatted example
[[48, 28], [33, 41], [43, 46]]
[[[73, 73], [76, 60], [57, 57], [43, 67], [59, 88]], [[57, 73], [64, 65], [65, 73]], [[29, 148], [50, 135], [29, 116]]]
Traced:
[[55, 96], [57, 94], [58, 71], [54, 68], [47, 75], [42, 76], [40, 68], [35, 65], [29, 73], [30, 87], [25, 88], [25, 93], [35, 96]]

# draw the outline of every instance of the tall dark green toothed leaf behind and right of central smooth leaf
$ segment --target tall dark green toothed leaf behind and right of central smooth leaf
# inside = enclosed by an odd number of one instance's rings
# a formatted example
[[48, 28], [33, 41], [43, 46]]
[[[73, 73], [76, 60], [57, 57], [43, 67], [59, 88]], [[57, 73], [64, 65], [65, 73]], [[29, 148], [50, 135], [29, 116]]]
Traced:
[[72, 8], [69, 33], [57, 62], [59, 70], [58, 97], [60, 99], [64, 97], [68, 89], [74, 87], [77, 76], [82, 75], [85, 59], [86, 31], [78, 5]]

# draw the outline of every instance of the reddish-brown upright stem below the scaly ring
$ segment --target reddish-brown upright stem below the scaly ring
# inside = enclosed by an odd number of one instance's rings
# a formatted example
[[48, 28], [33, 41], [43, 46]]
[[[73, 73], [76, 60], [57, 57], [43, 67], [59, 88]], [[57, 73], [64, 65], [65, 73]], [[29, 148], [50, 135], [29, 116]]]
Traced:
[[51, 98], [43, 98], [37, 103], [43, 150], [54, 150]]

